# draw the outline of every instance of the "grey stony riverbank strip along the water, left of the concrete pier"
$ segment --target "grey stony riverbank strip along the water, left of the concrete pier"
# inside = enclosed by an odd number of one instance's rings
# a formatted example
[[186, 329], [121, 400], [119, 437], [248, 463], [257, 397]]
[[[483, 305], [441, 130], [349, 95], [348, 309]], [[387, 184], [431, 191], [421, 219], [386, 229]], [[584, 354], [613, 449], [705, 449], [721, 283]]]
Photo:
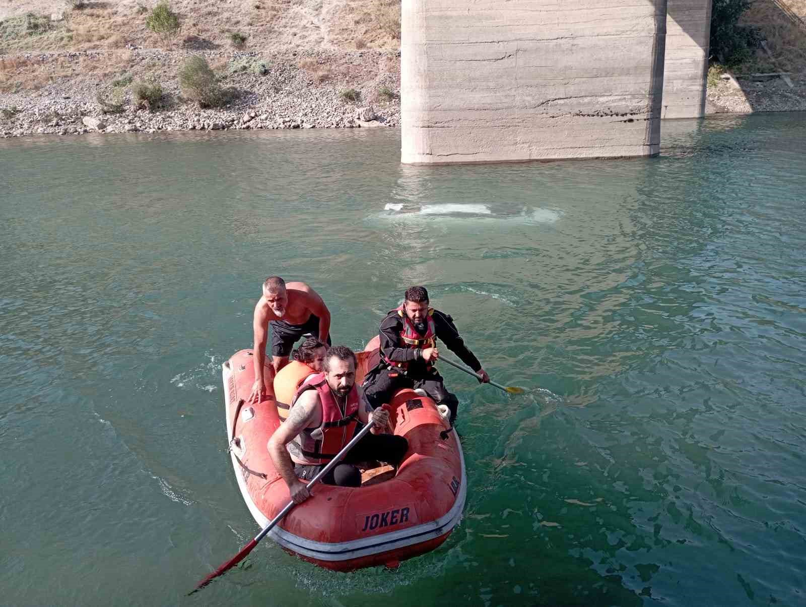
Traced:
[[[224, 107], [202, 109], [182, 98], [177, 72], [192, 54], [204, 56], [229, 91]], [[397, 127], [399, 57], [372, 50], [266, 55], [141, 48], [0, 57], [6, 71], [15, 69], [19, 83], [10, 86], [6, 78], [0, 94], [0, 136]], [[136, 80], [162, 86], [152, 111], [132, 99], [129, 85]], [[105, 112], [99, 93], [101, 98], [117, 93], [121, 111]]]

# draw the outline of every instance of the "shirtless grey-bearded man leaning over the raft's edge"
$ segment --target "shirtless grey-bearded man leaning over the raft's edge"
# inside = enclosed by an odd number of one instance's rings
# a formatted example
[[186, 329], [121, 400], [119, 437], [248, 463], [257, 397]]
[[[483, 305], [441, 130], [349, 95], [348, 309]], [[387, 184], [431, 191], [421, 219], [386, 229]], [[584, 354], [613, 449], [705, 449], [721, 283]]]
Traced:
[[268, 327], [272, 327], [272, 365], [279, 371], [289, 362], [293, 345], [312, 334], [330, 344], [330, 311], [318, 293], [305, 283], [288, 283], [269, 276], [263, 283], [263, 296], [255, 306], [252, 329], [255, 333], [255, 383], [247, 402], [257, 402], [264, 394], [263, 365]]

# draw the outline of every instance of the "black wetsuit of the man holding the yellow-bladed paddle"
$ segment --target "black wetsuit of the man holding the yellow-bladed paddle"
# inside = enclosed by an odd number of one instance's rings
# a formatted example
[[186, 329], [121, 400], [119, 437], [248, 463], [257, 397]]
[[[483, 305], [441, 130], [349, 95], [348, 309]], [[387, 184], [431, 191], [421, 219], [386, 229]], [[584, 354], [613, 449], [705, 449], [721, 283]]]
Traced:
[[[434, 310], [434, 333], [439, 341], [442, 341], [453, 351], [462, 362], [472, 370], [481, 369], [481, 363], [467, 346], [464, 345], [459, 330], [453, 323], [451, 316]], [[403, 319], [397, 310], [389, 312], [386, 318], [380, 323], [380, 352], [386, 358], [394, 362], [408, 362], [407, 370], [401, 371], [396, 367], [390, 367], [383, 359], [372, 369], [367, 378], [364, 379], [364, 394], [367, 396], [369, 404], [373, 408], [380, 407], [381, 404], [388, 403], [394, 393], [401, 388], [422, 388], [426, 394], [434, 399], [437, 404], [447, 404], [451, 409], [451, 422], [456, 418], [456, 408], [459, 400], [454, 394], [445, 389], [444, 380], [438, 371], [428, 365], [422, 358], [417, 358], [418, 351], [408, 346], [401, 347], [400, 336], [403, 330]]]

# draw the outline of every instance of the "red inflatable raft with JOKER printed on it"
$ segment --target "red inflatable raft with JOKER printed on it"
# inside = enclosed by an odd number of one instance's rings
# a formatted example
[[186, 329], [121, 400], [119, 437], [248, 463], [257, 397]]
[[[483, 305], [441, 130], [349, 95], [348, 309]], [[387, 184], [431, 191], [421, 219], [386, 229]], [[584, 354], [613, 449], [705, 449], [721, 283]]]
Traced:
[[[356, 354], [355, 381], [360, 383], [369, 361], [376, 360], [377, 338]], [[274, 369], [268, 362], [264, 376], [272, 386]], [[267, 387], [260, 403], [246, 404], [255, 381], [251, 350], [241, 350], [223, 364], [223, 379], [235, 478], [249, 512], [263, 528], [291, 500], [267, 443], [281, 423], [275, 394], [293, 394], [295, 387]], [[279, 404], [282, 417], [287, 406]], [[466, 496], [459, 437], [455, 430], [440, 437], [449, 426], [427, 396], [401, 390], [390, 408], [392, 432], [409, 442], [397, 472], [392, 467], [369, 468], [356, 488], [318, 484], [269, 537], [289, 553], [335, 571], [396, 567], [447, 539], [462, 517]]]

